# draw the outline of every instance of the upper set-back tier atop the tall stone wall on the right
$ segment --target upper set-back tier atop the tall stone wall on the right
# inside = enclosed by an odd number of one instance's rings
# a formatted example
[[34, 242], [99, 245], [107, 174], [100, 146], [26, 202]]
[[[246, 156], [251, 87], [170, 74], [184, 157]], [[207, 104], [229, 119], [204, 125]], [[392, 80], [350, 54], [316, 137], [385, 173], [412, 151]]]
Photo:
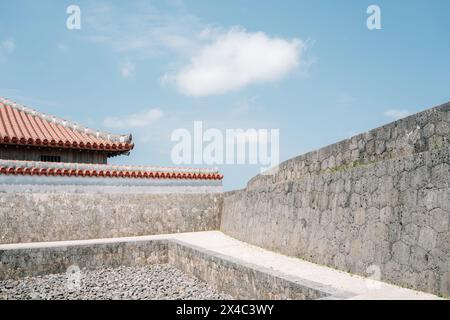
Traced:
[[450, 147], [450, 102], [289, 159], [276, 174], [257, 175], [248, 189]]

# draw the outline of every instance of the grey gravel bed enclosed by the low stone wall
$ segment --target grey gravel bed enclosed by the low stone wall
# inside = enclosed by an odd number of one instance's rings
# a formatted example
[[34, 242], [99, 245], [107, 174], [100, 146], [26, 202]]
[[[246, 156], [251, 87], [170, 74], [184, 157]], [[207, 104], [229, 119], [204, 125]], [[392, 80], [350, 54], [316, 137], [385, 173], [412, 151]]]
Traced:
[[[72, 270], [71, 270], [72, 271]], [[1, 299], [232, 299], [168, 265], [74, 270], [0, 281]]]

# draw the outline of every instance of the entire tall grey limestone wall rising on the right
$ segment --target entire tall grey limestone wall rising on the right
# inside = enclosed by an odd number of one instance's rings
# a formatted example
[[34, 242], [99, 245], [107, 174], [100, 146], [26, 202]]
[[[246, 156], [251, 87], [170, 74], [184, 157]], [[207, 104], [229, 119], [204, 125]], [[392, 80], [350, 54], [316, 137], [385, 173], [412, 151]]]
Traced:
[[450, 104], [291, 159], [225, 194], [221, 230], [450, 296]]

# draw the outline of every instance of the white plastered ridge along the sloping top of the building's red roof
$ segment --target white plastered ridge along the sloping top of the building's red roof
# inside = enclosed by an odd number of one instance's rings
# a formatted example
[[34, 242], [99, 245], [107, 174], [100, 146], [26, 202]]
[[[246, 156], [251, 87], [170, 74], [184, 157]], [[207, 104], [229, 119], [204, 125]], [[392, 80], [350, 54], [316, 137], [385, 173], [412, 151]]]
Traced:
[[95, 136], [97, 139], [109, 140], [112, 142], [120, 142], [120, 143], [131, 143], [131, 140], [132, 140], [131, 134], [119, 135], [119, 134], [112, 134], [112, 133], [105, 132], [105, 131], [94, 130], [94, 129], [82, 126], [76, 122], [65, 120], [63, 118], [49, 115], [49, 114], [40, 112], [33, 108], [29, 108], [23, 104], [17, 103], [15, 101], [12, 101], [12, 100], [7, 99], [2, 96], [0, 96], [0, 103], [5, 106], [8, 105], [11, 108], [22, 111], [26, 114], [30, 114], [34, 117], [38, 117], [44, 121], [59, 124], [59, 125], [63, 126], [64, 128], [69, 128], [71, 130], [78, 131], [80, 133], [85, 133], [87, 135]]

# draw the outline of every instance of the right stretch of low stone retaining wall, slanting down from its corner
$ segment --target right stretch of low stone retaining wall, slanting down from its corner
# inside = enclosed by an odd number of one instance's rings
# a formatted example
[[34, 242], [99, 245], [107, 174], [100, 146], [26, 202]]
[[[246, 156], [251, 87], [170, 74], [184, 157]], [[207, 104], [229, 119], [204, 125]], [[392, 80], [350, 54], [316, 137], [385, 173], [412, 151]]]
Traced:
[[169, 241], [168, 248], [170, 264], [235, 299], [345, 299], [354, 295], [181, 241]]

